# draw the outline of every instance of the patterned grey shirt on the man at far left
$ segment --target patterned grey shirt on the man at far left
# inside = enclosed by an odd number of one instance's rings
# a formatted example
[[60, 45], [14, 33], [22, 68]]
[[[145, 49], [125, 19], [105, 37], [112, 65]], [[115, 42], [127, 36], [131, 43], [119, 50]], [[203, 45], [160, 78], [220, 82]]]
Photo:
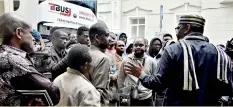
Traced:
[[26, 58], [26, 52], [2, 45], [0, 47], [0, 105], [19, 105], [19, 96], [13, 89], [10, 80], [25, 75], [32, 65]]

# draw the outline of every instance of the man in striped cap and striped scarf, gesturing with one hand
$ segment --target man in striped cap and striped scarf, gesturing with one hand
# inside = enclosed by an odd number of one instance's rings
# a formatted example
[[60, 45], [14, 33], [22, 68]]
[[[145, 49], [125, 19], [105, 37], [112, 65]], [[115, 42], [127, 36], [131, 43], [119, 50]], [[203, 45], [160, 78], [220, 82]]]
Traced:
[[203, 38], [205, 19], [183, 15], [176, 27], [179, 42], [164, 50], [157, 74], [148, 76], [141, 65], [125, 65], [143, 86], [167, 88], [167, 106], [217, 106], [232, 92], [231, 61], [226, 53]]

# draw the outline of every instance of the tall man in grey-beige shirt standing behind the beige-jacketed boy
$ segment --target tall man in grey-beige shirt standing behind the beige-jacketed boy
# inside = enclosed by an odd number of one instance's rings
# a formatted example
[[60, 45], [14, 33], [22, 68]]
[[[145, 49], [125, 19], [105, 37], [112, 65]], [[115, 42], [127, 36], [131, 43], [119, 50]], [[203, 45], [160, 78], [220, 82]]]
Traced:
[[103, 21], [98, 21], [91, 26], [89, 36], [91, 40], [90, 54], [92, 62], [90, 71], [85, 76], [100, 92], [101, 105], [108, 106], [110, 61], [105, 54], [109, 42], [107, 25]]

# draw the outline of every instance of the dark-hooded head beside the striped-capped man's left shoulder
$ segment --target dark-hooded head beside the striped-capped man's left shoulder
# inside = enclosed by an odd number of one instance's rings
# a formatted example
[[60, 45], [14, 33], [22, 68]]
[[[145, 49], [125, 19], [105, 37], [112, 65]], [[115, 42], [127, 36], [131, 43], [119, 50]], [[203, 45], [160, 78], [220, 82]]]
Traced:
[[162, 47], [162, 41], [159, 38], [153, 38], [150, 42], [149, 55], [154, 58]]

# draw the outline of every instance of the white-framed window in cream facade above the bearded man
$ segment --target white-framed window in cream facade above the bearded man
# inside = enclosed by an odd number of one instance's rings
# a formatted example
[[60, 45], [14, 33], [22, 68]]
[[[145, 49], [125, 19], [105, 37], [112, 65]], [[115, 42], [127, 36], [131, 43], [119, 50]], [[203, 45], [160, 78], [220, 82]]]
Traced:
[[130, 30], [131, 37], [145, 37], [145, 18], [131, 18], [130, 19]]

